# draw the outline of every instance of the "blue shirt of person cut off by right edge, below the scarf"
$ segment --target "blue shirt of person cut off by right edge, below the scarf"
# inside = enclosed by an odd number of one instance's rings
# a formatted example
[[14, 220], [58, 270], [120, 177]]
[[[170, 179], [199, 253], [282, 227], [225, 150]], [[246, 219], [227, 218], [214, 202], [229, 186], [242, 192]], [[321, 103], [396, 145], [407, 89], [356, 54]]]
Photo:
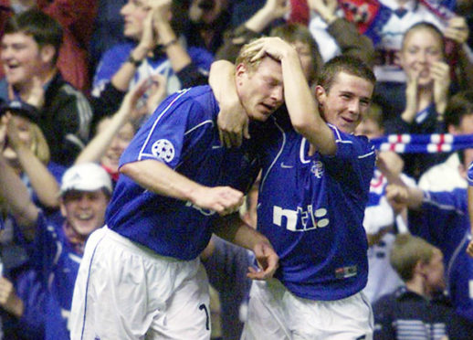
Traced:
[[447, 289], [457, 313], [473, 321], [473, 258], [467, 253], [467, 190], [425, 192], [422, 210], [409, 212], [409, 229], [444, 253]]

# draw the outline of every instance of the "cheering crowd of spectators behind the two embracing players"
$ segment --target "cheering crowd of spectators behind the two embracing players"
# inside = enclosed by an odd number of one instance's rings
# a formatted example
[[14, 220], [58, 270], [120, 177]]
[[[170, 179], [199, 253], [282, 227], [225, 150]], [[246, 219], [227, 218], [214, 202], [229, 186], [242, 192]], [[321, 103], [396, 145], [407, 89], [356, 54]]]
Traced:
[[[0, 0], [0, 339], [68, 338], [84, 243], [103, 224], [122, 152], [167, 95], [207, 84], [213, 61], [282, 37], [315, 85], [323, 62], [351, 55], [377, 78], [357, 134], [454, 139], [473, 135], [472, 27], [469, 0]], [[428, 207], [408, 196], [466, 202], [473, 139], [471, 150], [427, 146], [378, 154], [363, 222], [374, 339], [473, 339], [473, 258], [457, 260], [469, 224], [419, 218]], [[258, 181], [253, 227], [257, 200]], [[466, 205], [452, 203], [463, 217]], [[202, 260], [220, 297], [213, 336], [238, 339], [252, 259], [215, 237]]]

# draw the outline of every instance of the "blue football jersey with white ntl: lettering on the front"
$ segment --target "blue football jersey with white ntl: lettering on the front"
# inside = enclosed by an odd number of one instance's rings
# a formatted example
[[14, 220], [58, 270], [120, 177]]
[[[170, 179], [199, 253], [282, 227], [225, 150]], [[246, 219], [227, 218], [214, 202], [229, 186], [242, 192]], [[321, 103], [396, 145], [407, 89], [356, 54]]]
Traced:
[[310, 155], [310, 143], [287, 120], [274, 118], [267, 125], [258, 230], [279, 254], [277, 278], [312, 300], [360, 292], [368, 274], [363, 214], [373, 146], [330, 125], [337, 153]]

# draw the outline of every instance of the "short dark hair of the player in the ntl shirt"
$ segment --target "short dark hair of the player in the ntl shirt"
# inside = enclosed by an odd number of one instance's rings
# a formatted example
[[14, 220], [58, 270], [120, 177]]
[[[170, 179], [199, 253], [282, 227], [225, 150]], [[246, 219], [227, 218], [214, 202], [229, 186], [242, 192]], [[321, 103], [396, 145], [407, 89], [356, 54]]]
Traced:
[[368, 67], [363, 60], [352, 56], [342, 55], [331, 58], [323, 65], [317, 84], [328, 92], [331, 90], [335, 78], [341, 72], [360, 77], [363, 80], [368, 80], [373, 85], [376, 82], [373, 70]]

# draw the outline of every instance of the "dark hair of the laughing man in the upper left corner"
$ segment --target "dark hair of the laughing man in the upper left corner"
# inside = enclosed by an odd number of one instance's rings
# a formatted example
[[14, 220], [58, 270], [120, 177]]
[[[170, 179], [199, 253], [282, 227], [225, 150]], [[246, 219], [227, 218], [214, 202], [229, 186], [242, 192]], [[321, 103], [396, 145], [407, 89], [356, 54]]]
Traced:
[[63, 30], [58, 21], [37, 8], [29, 9], [8, 18], [4, 34], [24, 33], [33, 37], [39, 48], [52, 45], [56, 49], [53, 63], [58, 60], [59, 48], [62, 44]]

